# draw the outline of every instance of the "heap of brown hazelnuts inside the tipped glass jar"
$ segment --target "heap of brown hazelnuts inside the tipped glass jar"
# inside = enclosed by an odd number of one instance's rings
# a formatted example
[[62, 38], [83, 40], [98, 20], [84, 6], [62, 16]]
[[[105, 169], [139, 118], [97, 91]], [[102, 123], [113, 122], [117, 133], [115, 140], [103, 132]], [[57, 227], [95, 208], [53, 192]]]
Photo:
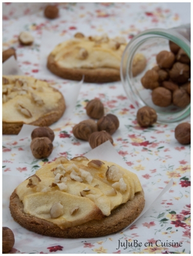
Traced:
[[155, 105], [171, 104], [185, 108], [190, 103], [190, 59], [183, 49], [169, 41], [170, 51], [156, 55], [157, 65], [141, 78], [142, 86], [152, 90]]

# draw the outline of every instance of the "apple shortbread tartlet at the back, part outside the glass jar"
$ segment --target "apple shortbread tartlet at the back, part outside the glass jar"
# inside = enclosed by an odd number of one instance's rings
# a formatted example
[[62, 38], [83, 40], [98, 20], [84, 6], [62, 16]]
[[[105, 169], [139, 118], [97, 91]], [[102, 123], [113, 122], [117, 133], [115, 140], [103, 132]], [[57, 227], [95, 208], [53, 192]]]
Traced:
[[62, 42], [48, 56], [48, 69], [62, 78], [85, 82], [120, 80], [120, 63], [126, 46], [123, 37], [84, 36]]

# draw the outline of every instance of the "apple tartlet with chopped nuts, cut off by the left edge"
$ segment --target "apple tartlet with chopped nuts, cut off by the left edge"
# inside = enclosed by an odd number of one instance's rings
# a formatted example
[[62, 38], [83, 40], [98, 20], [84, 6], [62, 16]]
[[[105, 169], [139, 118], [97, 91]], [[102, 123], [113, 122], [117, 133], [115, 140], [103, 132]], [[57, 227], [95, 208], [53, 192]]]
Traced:
[[49, 126], [65, 112], [63, 95], [46, 81], [3, 76], [3, 134], [18, 134], [23, 124]]

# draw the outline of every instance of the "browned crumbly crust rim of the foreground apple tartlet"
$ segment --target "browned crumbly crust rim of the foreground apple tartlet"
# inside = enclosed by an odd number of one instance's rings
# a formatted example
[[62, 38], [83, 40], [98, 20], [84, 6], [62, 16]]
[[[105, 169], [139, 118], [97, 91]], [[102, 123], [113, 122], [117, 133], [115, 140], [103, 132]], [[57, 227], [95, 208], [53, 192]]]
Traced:
[[20, 202], [15, 191], [10, 197], [9, 207], [16, 222], [38, 234], [58, 238], [94, 238], [116, 232], [131, 224], [140, 215], [144, 204], [144, 193], [143, 191], [138, 192], [133, 200], [114, 209], [110, 216], [66, 229], [60, 229], [51, 222], [25, 214], [24, 205]]

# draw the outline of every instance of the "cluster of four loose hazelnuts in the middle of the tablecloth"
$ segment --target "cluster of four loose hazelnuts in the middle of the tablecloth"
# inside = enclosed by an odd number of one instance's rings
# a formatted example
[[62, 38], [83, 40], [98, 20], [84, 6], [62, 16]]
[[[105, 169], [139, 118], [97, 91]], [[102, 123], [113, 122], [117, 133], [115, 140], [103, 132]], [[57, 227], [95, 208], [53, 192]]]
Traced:
[[[85, 108], [92, 119], [79, 122], [73, 127], [73, 135], [77, 139], [89, 141], [92, 148], [110, 140], [119, 127], [119, 119], [113, 114], [104, 115], [104, 105], [99, 99], [90, 100]], [[97, 121], [96, 121], [97, 119]]]

